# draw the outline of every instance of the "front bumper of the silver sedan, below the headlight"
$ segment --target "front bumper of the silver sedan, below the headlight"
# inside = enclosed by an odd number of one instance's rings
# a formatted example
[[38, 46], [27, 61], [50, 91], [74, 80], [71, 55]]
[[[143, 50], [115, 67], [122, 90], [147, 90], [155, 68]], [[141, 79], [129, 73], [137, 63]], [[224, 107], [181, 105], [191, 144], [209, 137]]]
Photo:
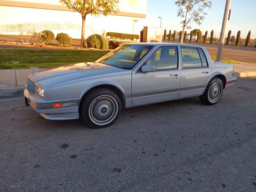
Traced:
[[[44, 100], [35, 94], [30, 94], [28, 89], [24, 91], [25, 103], [50, 120], [78, 119], [79, 100]], [[60, 108], [53, 108], [54, 103], [61, 103]]]

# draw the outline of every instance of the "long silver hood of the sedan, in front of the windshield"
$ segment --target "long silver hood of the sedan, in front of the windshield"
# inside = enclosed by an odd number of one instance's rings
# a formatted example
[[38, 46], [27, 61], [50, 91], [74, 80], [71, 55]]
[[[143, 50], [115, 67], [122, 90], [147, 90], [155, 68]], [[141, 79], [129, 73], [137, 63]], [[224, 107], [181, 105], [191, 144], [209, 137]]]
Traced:
[[129, 70], [108, 66], [102, 63], [83, 62], [33, 73], [30, 74], [28, 78], [41, 87], [51, 87], [56, 84], [77, 81], [78, 79], [86, 80], [88, 78], [110, 76], [119, 73], [126, 74], [129, 73]]

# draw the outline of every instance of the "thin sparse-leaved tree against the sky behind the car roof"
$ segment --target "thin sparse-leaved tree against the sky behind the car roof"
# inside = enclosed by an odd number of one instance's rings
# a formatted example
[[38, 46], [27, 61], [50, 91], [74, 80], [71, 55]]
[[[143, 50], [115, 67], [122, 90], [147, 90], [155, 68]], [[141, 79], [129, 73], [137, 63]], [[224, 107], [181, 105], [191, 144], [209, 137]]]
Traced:
[[183, 32], [181, 44], [183, 44], [185, 28], [191, 29], [188, 24], [192, 22], [201, 25], [205, 15], [207, 15], [207, 13], [204, 12], [204, 9], [211, 8], [211, 2], [208, 0], [177, 0], [175, 5], [179, 8], [177, 16], [183, 19], [181, 21]]

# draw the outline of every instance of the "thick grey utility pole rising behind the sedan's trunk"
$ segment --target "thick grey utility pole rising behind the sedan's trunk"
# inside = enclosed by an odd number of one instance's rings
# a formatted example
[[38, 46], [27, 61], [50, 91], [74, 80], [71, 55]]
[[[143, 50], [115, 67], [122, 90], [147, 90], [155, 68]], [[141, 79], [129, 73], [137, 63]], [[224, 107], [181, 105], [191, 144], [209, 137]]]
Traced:
[[226, 0], [226, 6], [225, 6], [223, 21], [222, 21], [221, 36], [219, 40], [219, 47], [218, 47], [216, 61], [221, 61], [221, 53], [222, 53], [222, 49], [225, 41], [226, 24], [230, 17], [230, 9], [229, 9], [230, 4], [231, 4], [231, 0]]

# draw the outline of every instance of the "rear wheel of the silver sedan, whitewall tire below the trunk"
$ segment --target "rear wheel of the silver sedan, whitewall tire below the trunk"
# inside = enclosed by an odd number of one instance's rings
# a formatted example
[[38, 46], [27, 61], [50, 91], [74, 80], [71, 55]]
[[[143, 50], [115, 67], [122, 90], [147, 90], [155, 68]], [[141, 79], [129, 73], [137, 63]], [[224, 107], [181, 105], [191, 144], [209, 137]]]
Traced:
[[206, 105], [216, 104], [223, 93], [223, 82], [219, 78], [213, 78], [208, 83], [203, 95], [199, 96], [202, 103]]

